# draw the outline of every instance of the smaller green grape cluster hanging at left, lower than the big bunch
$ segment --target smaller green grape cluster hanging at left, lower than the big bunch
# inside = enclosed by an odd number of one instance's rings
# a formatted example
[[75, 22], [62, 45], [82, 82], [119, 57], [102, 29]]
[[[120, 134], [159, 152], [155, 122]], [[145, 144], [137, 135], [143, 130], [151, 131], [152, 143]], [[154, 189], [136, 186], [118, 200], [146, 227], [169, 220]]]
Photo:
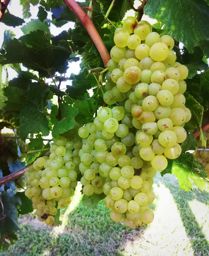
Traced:
[[65, 137], [53, 140], [50, 155], [37, 158], [25, 172], [27, 189], [25, 195], [31, 198], [33, 209], [40, 221], [54, 224], [57, 208], [70, 204], [77, 186], [79, 172], [79, 150], [81, 142], [67, 141]]

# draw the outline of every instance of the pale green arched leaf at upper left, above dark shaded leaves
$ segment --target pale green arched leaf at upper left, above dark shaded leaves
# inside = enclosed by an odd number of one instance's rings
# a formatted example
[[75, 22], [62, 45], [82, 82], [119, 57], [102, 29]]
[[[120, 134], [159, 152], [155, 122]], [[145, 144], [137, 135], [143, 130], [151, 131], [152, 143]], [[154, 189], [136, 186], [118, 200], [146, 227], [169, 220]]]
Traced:
[[48, 24], [46, 22], [41, 22], [40, 20], [31, 20], [26, 25], [24, 25], [21, 28], [21, 30], [25, 35], [29, 34], [32, 31], [35, 31], [35, 30], [42, 30], [42, 31], [46, 32], [47, 34], [50, 34]]

